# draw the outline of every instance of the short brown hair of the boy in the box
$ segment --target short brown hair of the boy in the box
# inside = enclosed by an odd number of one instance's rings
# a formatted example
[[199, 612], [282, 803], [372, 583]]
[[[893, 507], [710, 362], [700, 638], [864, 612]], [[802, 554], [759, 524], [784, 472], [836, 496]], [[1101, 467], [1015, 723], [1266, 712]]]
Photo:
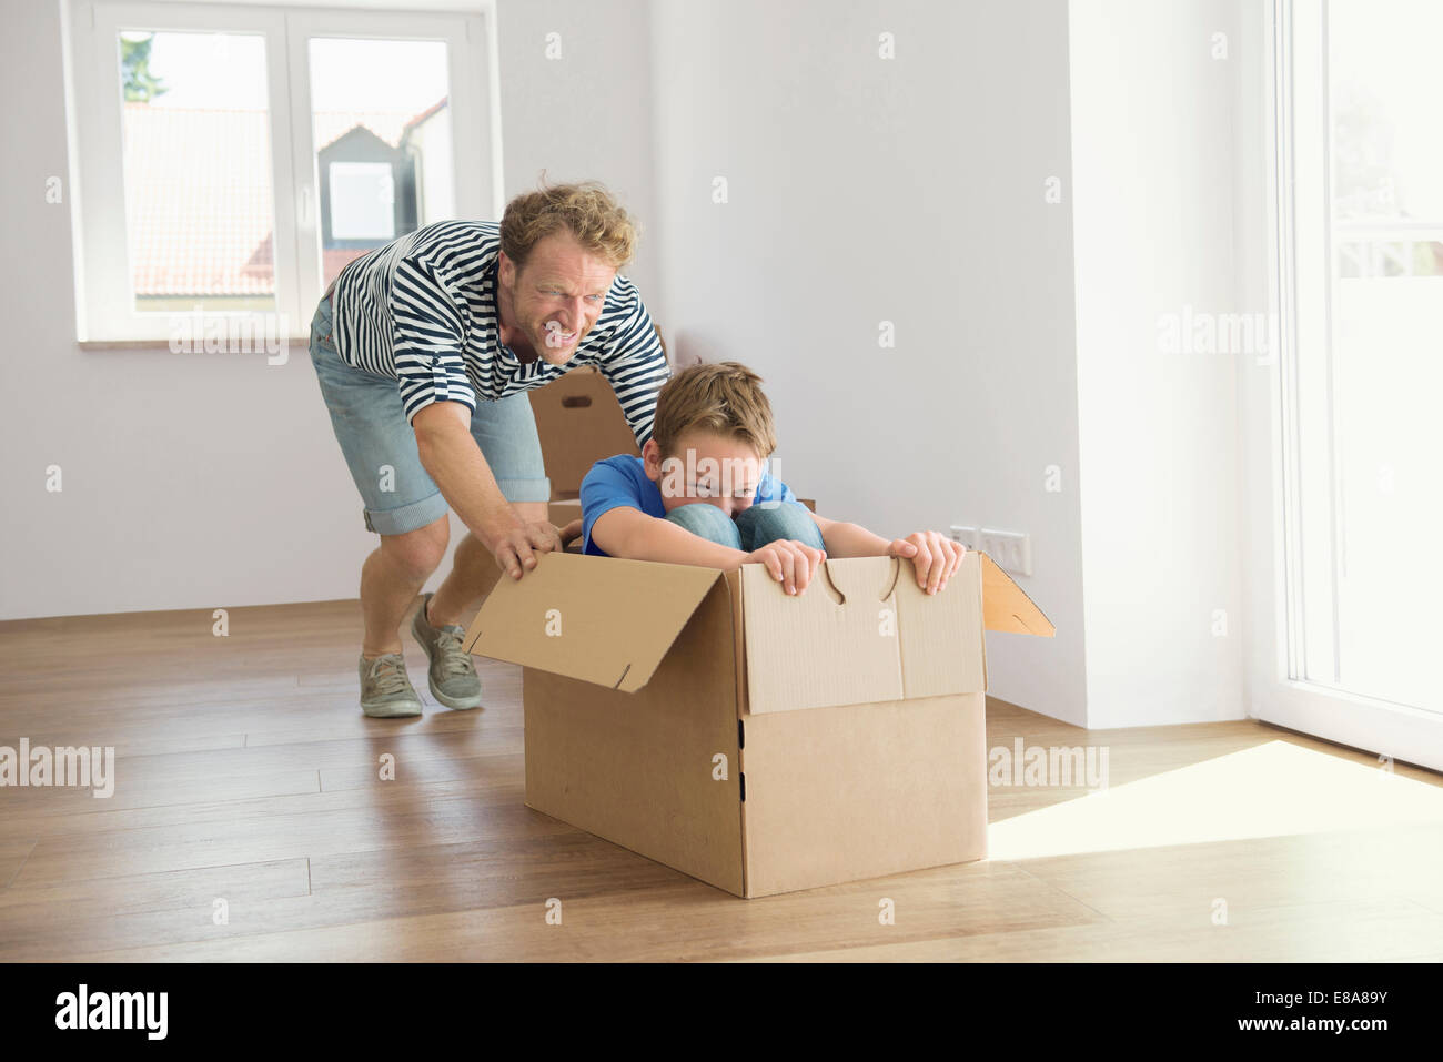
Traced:
[[657, 394], [651, 437], [662, 457], [675, 455], [677, 440], [691, 429], [730, 436], [766, 459], [776, 449], [772, 404], [762, 378], [734, 361], [690, 365], [668, 379]]

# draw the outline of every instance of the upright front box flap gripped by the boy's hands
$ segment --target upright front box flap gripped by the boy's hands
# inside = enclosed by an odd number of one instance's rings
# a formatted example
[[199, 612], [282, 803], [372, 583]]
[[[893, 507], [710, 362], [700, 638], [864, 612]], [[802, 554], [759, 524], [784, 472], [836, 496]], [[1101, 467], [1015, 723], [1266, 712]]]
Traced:
[[974, 553], [932, 596], [911, 561], [892, 557], [827, 560], [797, 596], [760, 564], [743, 566], [740, 582], [753, 714], [986, 688]]

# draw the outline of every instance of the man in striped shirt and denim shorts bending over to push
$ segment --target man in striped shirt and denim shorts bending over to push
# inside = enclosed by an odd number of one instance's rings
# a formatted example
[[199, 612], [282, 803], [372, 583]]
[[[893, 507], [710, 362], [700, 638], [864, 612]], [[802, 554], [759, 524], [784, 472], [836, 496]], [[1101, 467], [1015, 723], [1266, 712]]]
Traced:
[[421, 714], [400, 625], [446, 553], [449, 509], [468, 534], [411, 622], [447, 707], [481, 704], [462, 622], [488, 554], [521, 579], [560, 548], [528, 390], [595, 365], [636, 444], [651, 437], [670, 368], [636, 287], [616, 276], [635, 244], [606, 189], [558, 185], [512, 199], [499, 225], [442, 221], [378, 247], [322, 297], [310, 358], [367, 530], [381, 535], [361, 569], [365, 714]]

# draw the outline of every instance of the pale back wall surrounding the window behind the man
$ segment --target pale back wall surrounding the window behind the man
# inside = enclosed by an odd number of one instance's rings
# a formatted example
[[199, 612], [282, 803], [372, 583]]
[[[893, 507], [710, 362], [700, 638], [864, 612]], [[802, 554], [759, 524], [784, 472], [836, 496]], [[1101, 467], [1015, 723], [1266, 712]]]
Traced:
[[[547, 166], [649, 219], [645, 4], [501, 0], [499, 26], [506, 193]], [[563, 62], [543, 59], [550, 30]], [[45, 202], [68, 166], [58, 0], [7, 3], [0, 48], [0, 92], [25, 101], [0, 118], [0, 619], [355, 597], [375, 537], [304, 349], [280, 367], [76, 349], [69, 206]], [[651, 297], [651, 260], [631, 274]]]

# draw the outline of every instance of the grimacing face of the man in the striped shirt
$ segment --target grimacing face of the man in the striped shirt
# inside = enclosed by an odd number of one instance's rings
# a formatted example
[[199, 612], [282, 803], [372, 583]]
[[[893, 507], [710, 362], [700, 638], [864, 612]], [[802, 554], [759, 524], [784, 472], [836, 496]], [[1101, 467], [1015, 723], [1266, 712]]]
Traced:
[[517, 268], [501, 254], [501, 286], [531, 349], [550, 365], [564, 365], [602, 316], [616, 267], [587, 254], [570, 232], [553, 232]]

